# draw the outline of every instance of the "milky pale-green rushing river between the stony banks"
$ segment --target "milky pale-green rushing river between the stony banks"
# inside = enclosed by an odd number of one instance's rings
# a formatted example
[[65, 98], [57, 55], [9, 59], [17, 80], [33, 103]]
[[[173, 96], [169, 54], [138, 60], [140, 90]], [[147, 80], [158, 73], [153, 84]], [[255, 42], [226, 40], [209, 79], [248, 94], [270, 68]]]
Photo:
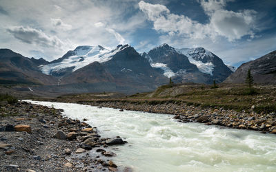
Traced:
[[102, 137], [121, 136], [114, 162], [135, 171], [276, 171], [276, 135], [181, 123], [166, 114], [32, 101], [88, 119]]

